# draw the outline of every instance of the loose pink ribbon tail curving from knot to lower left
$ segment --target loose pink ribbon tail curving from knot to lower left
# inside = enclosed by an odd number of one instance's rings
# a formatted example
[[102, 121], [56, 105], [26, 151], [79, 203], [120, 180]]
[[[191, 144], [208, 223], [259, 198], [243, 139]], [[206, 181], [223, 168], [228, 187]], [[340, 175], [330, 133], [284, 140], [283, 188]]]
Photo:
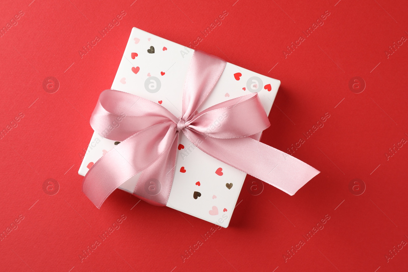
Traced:
[[82, 183], [82, 192], [98, 209], [116, 188], [151, 166], [174, 145], [175, 124], [171, 123], [156, 124], [135, 133], [89, 169]]

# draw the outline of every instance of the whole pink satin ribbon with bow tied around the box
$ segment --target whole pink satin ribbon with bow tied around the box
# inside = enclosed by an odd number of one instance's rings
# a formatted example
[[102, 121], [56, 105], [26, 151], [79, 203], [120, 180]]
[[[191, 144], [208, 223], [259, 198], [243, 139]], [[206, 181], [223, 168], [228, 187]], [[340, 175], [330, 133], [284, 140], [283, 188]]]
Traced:
[[[165, 206], [173, 183], [180, 132], [208, 155], [289, 195], [319, 173], [295, 157], [259, 142], [262, 131], [271, 124], [257, 93], [197, 113], [225, 65], [218, 57], [194, 51], [180, 118], [137, 95], [115, 90], [101, 93], [91, 126], [105, 138], [121, 143], [95, 162], [84, 177], [82, 191], [96, 207], [100, 208], [116, 188], [140, 172], [133, 194], [153, 205]], [[220, 124], [213, 126], [220, 117]], [[108, 128], [110, 133], [106, 135]], [[146, 189], [149, 184], [158, 189], [152, 193]]]

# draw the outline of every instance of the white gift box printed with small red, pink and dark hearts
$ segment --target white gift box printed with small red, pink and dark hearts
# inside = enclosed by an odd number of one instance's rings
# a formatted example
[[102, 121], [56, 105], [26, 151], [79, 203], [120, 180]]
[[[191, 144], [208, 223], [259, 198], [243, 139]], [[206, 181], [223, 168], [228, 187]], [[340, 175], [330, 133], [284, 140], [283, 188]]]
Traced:
[[[161, 104], [173, 115], [180, 116], [184, 82], [193, 52], [191, 48], [134, 27], [111, 88]], [[279, 84], [279, 80], [227, 62], [199, 111], [249, 93], [258, 93], [266, 114], [269, 114]], [[220, 115], [212, 126], [216, 128], [223, 118]], [[120, 120], [118, 118], [106, 133], [120, 126]], [[120, 144], [103, 136], [93, 133], [78, 171], [80, 175], [86, 175], [98, 159]], [[228, 227], [246, 173], [204, 153], [182, 133], [177, 147], [173, 184], [166, 206]], [[139, 177], [140, 174], [131, 177], [119, 188], [133, 193]], [[160, 183], [151, 182], [146, 190], [157, 190], [157, 186]]]

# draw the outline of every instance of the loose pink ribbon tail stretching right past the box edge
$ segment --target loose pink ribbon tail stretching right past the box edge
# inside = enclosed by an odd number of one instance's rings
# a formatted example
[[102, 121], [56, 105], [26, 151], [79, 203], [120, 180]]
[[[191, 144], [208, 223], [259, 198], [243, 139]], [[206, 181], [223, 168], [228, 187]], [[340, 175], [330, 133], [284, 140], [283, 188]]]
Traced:
[[208, 155], [294, 195], [320, 173], [312, 166], [249, 137], [219, 139], [191, 130], [186, 137]]

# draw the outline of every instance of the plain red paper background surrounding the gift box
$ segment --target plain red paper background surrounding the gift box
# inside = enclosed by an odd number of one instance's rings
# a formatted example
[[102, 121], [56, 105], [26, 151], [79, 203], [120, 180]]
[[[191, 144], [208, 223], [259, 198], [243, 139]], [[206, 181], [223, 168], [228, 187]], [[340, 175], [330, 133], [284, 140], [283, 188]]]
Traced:
[[[388, 58], [385, 51], [408, 38], [408, 4], [235, 1], [2, 1], [1, 27], [24, 15], [0, 38], [0, 129], [24, 117], [0, 140], [0, 232], [24, 219], [0, 241], [1, 271], [406, 271], [406, 246], [385, 256], [408, 241], [408, 146], [385, 154], [408, 139], [408, 44]], [[81, 58], [82, 46], [122, 10], [120, 25]], [[282, 81], [262, 142], [286, 151], [325, 113], [330, 118], [293, 154], [319, 175], [292, 197], [267, 184], [255, 196], [247, 188], [256, 180], [247, 177], [230, 226], [183, 262], [214, 225], [120, 190], [98, 210], [81, 192], [80, 154], [131, 27], [188, 46], [224, 10], [197, 49]], [[324, 25], [285, 58], [286, 46], [325, 11]], [[56, 93], [42, 87], [49, 76], [60, 83]], [[355, 76], [366, 84], [358, 94], [348, 87]], [[49, 178], [60, 185], [56, 195], [43, 191]], [[355, 178], [366, 186], [358, 196], [349, 190]], [[81, 262], [82, 250], [121, 215], [120, 229]], [[325, 215], [324, 229], [285, 262]]]

